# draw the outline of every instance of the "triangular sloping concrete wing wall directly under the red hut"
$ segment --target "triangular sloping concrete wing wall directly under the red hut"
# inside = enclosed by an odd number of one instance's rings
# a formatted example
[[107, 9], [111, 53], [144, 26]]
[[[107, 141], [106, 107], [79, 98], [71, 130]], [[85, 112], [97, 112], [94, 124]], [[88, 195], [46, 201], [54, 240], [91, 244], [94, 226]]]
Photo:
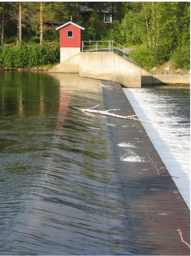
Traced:
[[79, 73], [80, 54], [76, 54], [69, 59], [48, 70], [50, 73]]

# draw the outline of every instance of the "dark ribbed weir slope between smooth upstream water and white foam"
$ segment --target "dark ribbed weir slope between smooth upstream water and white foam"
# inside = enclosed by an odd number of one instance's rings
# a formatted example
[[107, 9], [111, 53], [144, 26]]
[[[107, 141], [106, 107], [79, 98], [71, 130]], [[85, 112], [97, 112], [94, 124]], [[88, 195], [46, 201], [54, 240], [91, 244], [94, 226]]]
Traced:
[[[128, 95], [125, 96], [121, 86], [115, 86], [114, 91], [103, 87], [105, 108], [119, 108], [118, 112], [124, 115], [134, 115]], [[141, 89], [125, 90], [137, 90], [138, 93]], [[136, 114], [142, 114], [139, 111], [137, 108]], [[140, 119], [148, 120], [148, 116], [144, 117]], [[146, 133], [144, 122], [108, 119], [131, 246], [136, 248], [138, 255], [188, 255], [189, 248], [182, 243], [177, 229], [182, 227], [189, 243], [190, 211]], [[179, 175], [181, 177], [181, 172]]]

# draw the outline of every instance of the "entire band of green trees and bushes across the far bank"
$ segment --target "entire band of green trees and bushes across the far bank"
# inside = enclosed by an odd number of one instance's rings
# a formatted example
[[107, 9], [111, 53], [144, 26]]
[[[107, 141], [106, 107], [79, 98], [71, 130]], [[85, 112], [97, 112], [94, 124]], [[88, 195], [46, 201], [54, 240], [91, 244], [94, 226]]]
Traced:
[[[68, 22], [72, 15], [73, 22], [85, 28], [83, 41], [114, 40], [123, 46], [136, 46], [130, 57], [144, 67], [153, 67], [169, 60], [176, 68], [190, 67], [190, 2], [41, 3], [44, 42], [58, 42], [59, 33], [55, 27]], [[22, 2], [21, 6], [22, 42], [26, 44], [3, 47], [0, 50], [0, 65], [23, 67], [57, 62], [57, 44], [54, 47], [43, 44], [41, 48], [36, 45], [40, 41], [40, 2]], [[5, 44], [16, 43], [18, 7], [19, 2], [5, 4]], [[83, 12], [85, 14], [89, 10], [92, 15], [85, 22]], [[107, 12], [112, 13], [113, 21], [106, 25], [102, 21], [102, 13]], [[90, 42], [89, 45], [95, 43]]]

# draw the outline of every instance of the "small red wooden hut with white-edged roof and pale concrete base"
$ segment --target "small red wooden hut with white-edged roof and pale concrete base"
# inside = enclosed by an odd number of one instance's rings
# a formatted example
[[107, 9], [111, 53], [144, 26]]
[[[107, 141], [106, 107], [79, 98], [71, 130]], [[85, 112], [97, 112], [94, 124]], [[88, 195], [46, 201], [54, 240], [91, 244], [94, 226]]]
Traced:
[[60, 62], [80, 53], [82, 30], [84, 29], [72, 21], [56, 28], [60, 34]]

